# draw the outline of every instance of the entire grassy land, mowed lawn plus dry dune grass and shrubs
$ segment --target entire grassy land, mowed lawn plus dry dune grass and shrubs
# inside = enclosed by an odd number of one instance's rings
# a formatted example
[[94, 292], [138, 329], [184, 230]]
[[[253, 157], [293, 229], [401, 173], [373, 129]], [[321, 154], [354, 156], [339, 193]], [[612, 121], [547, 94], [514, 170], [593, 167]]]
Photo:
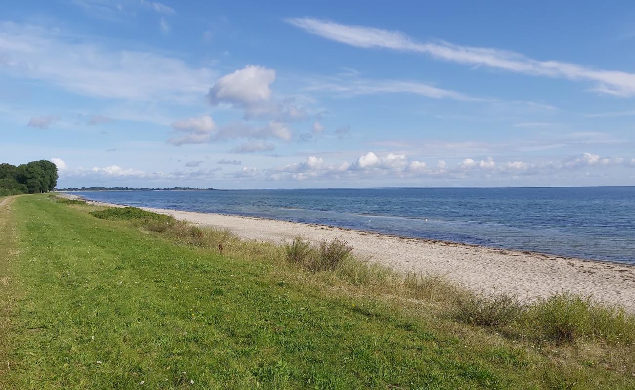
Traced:
[[343, 243], [99, 210], [43, 195], [0, 207], [0, 388], [635, 386], [635, 322], [615, 308], [475, 296]]

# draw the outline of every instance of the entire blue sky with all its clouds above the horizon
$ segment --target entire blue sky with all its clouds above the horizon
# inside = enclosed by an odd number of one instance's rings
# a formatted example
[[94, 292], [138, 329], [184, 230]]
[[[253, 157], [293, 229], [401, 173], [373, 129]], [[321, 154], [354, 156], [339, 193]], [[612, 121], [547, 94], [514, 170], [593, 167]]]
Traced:
[[0, 160], [60, 186], [635, 185], [635, 3], [11, 2]]

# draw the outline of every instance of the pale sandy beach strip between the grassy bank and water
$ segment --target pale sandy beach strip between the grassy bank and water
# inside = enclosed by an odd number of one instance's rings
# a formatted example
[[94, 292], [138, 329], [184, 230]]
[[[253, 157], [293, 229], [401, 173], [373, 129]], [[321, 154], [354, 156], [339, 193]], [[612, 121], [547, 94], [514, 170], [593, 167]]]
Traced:
[[339, 237], [346, 240], [361, 259], [401, 271], [439, 273], [476, 291], [512, 292], [531, 299], [568, 290], [592, 294], [606, 303], [623, 304], [635, 312], [635, 266], [628, 264], [396, 237], [318, 224], [143, 208], [201, 226], [226, 228], [239, 237], [255, 240], [281, 243], [301, 236], [317, 242]]

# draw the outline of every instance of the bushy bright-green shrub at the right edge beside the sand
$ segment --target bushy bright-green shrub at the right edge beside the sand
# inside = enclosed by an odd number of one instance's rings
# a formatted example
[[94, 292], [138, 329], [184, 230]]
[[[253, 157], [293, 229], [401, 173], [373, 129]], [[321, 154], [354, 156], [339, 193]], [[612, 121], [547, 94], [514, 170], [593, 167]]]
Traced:
[[584, 337], [608, 342], [635, 342], [635, 317], [620, 306], [604, 306], [569, 292], [540, 299], [531, 304], [523, 325], [535, 338], [553, 342], [573, 342]]

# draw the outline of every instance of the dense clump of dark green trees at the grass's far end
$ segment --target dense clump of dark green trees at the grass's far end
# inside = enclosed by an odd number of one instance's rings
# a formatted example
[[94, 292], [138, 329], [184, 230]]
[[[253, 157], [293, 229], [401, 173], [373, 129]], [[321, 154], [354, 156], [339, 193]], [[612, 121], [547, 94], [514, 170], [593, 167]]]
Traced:
[[57, 185], [57, 166], [49, 160], [12, 166], [0, 164], [0, 197], [52, 191]]

